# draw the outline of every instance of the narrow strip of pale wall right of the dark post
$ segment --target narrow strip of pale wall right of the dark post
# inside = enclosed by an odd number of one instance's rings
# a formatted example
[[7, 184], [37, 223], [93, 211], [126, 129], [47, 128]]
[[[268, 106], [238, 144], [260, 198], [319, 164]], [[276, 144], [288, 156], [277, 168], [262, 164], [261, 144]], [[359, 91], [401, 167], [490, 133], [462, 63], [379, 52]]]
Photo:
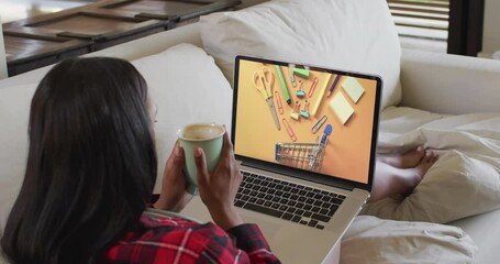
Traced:
[[480, 56], [491, 57], [500, 51], [500, 1], [485, 1], [485, 24], [482, 31], [482, 52]]

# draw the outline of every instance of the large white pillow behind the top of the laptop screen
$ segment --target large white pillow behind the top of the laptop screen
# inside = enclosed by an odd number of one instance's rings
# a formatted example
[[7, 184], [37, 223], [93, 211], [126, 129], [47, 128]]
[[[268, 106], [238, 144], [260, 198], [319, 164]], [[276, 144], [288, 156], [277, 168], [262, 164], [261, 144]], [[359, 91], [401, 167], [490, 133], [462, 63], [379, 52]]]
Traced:
[[227, 79], [237, 54], [380, 75], [382, 108], [401, 100], [401, 48], [384, 0], [275, 0], [200, 19]]

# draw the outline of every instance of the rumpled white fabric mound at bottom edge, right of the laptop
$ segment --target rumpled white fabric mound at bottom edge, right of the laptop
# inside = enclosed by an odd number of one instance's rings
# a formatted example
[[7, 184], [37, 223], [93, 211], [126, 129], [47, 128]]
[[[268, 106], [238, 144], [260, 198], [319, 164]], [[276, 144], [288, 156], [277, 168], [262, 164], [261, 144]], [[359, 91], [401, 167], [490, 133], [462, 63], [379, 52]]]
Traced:
[[474, 263], [477, 251], [456, 227], [365, 216], [343, 237], [341, 263]]

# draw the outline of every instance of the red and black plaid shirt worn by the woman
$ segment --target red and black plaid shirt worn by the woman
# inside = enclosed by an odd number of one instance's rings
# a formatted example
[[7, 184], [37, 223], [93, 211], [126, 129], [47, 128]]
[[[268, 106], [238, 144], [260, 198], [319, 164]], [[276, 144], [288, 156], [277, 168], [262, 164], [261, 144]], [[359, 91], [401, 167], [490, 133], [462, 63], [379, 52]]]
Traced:
[[280, 263], [255, 224], [227, 231], [213, 223], [143, 215], [131, 231], [103, 254], [103, 263]]

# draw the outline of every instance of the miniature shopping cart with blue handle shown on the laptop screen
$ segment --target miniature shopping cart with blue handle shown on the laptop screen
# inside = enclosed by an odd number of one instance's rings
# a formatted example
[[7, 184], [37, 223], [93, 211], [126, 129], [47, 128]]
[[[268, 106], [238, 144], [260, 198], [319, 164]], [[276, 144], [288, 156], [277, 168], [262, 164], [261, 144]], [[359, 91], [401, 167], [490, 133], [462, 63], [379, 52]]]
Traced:
[[293, 166], [311, 172], [321, 172], [324, 152], [332, 125], [326, 125], [321, 141], [316, 143], [276, 143], [275, 160], [284, 165]]

